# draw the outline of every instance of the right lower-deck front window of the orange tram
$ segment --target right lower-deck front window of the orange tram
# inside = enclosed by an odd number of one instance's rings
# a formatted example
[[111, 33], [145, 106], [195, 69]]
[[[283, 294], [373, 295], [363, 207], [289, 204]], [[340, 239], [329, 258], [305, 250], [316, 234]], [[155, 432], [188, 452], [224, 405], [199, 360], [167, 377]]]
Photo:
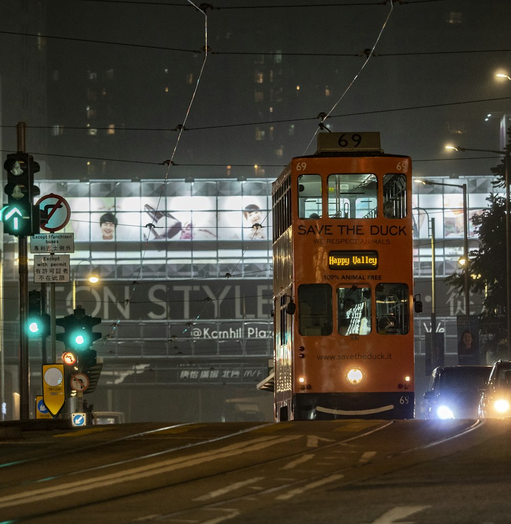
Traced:
[[408, 333], [408, 286], [406, 284], [378, 284], [376, 286], [376, 328], [381, 335]]

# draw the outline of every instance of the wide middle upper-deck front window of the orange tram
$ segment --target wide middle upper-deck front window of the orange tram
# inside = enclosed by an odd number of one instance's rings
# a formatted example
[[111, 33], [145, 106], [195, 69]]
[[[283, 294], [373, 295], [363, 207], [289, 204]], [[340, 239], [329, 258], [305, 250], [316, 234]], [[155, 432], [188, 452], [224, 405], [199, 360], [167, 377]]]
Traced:
[[328, 216], [373, 219], [378, 209], [378, 182], [371, 173], [336, 173], [328, 177]]

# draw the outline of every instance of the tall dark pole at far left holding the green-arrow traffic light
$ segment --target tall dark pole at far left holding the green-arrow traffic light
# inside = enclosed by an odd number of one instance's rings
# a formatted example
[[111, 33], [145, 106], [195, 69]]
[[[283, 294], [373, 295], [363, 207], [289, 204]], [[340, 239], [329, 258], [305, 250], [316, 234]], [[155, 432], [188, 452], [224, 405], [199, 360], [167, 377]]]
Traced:
[[[16, 125], [18, 152], [25, 152], [25, 122]], [[28, 317], [28, 243], [26, 236], [18, 237], [19, 272], [19, 418], [30, 418], [30, 367], [28, 334], [25, 324]]]

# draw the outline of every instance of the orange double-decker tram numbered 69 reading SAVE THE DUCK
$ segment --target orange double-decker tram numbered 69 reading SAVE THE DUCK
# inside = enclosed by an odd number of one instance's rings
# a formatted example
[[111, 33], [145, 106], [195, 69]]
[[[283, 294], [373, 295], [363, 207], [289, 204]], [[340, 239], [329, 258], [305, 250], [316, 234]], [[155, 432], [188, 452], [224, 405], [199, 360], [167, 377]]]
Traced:
[[317, 138], [272, 186], [276, 420], [413, 418], [411, 159]]

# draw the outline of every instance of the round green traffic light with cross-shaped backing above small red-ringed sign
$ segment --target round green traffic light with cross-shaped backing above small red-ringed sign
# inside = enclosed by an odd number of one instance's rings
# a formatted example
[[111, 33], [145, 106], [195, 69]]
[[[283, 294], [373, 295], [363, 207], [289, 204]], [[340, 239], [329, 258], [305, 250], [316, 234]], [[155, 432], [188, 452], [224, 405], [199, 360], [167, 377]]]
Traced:
[[58, 333], [56, 339], [64, 343], [66, 350], [80, 352], [78, 362], [85, 350], [88, 350], [95, 340], [101, 338], [101, 333], [93, 332], [92, 328], [101, 322], [97, 316], [85, 314], [85, 310], [79, 305], [72, 315], [56, 319], [56, 325], [64, 328], [64, 333]]

